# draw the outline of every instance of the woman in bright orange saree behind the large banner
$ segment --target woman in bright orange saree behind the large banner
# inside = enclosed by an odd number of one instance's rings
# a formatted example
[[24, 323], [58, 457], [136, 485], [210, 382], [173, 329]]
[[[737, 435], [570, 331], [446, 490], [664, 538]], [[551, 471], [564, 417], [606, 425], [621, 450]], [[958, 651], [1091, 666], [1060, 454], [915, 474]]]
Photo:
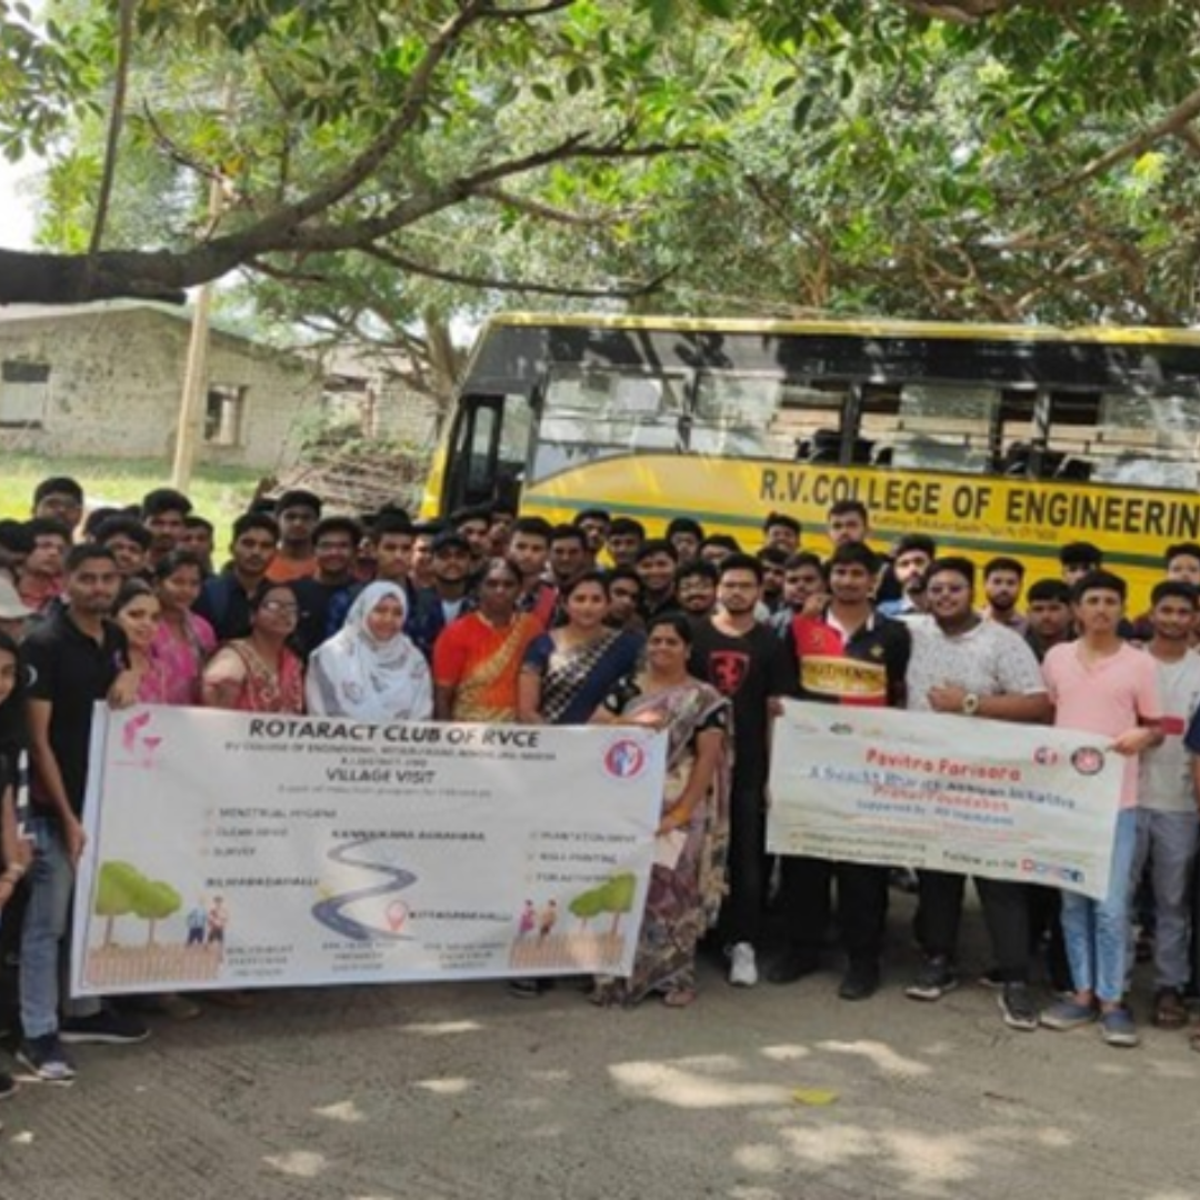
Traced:
[[439, 721], [517, 719], [517, 676], [535, 617], [517, 612], [521, 575], [493, 558], [479, 583], [479, 608], [448, 625], [433, 646], [433, 715]]

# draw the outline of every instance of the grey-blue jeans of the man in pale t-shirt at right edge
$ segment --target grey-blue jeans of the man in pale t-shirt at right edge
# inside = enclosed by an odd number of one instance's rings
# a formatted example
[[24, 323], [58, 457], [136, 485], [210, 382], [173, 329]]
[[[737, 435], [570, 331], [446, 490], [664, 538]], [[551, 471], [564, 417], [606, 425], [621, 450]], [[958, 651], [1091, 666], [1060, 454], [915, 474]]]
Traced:
[[[1192, 865], [1200, 841], [1195, 812], [1138, 810], [1138, 841], [1129, 887], [1136, 888], [1150, 862], [1154, 894], [1154, 986], [1182, 990], [1192, 977]], [[1130, 929], [1130, 935], [1133, 930]]]

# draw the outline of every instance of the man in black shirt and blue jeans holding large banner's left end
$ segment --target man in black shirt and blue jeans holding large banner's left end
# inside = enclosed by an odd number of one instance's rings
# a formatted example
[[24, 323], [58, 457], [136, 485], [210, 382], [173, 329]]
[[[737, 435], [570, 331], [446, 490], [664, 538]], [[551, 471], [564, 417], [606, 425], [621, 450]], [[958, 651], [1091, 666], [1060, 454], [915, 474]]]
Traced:
[[59, 962], [84, 847], [80, 818], [94, 706], [106, 697], [114, 703], [132, 700], [125, 635], [108, 620], [119, 586], [110, 550], [77, 546], [67, 556], [66, 604], [38, 624], [22, 647], [29, 674], [35, 858], [20, 948], [24, 1037], [18, 1058], [50, 1082], [68, 1082], [74, 1075], [61, 1042], [127, 1043], [146, 1036], [143, 1025], [106, 1012], [95, 1000], [64, 1001], [65, 1018], [59, 1022]]

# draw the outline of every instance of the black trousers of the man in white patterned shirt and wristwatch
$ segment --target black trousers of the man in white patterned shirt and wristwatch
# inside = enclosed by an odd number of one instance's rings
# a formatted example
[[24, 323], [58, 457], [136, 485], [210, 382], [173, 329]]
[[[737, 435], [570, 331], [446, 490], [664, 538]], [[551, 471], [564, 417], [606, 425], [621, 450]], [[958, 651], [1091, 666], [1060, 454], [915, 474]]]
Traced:
[[[918, 871], [920, 940], [925, 953], [953, 959], [962, 924], [966, 876], [947, 871]], [[991, 953], [1006, 983], [1030, 979], [1030, 908], [1027, 886], [1008, 880], [976, 878]]]

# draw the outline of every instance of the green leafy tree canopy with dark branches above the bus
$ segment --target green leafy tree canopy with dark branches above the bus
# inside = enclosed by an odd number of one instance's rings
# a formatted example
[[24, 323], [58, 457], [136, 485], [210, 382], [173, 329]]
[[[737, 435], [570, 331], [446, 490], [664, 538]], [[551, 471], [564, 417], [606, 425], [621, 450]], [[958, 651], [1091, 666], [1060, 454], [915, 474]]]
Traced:
[[241, 269], [284, 322], [401, 343], [514, 298], [1195, 319], [1182, 0], [50, 12], [0, 0], [0, 148], [52, 160], [0, 302]]

